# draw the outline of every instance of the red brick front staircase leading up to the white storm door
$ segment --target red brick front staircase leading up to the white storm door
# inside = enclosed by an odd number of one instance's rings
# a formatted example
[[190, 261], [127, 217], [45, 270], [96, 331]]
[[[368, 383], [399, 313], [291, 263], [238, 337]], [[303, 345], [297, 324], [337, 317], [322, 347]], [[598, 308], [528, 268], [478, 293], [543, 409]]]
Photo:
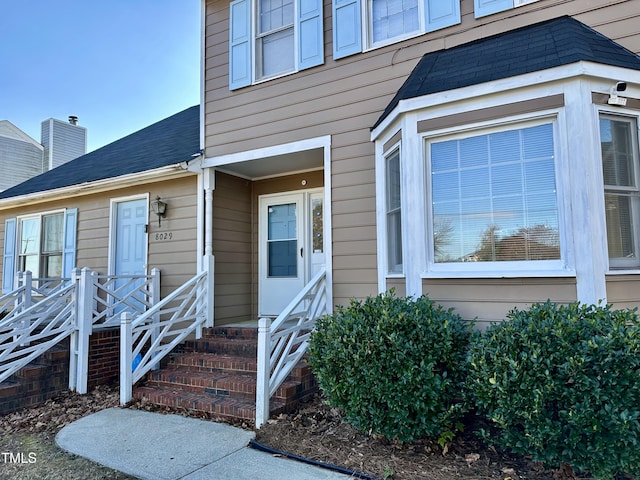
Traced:
[[[207, 329], [200, 340], [185, 342], [159, 370], [150, 372], [133, 396], [156, 405], [253, 421], [257, 341], [257, 328]], [[292, 410], [316, 391], [311, 370], [302, 361], [271, 397], [271, 414]]]

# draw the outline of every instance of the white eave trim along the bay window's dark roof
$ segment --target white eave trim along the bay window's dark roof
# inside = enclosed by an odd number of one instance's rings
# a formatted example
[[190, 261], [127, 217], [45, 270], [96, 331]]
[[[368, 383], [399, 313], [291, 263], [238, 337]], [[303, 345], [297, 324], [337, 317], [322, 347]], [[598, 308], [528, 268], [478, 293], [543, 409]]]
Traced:
[[516, 75], [514, 77], [501, 78], [491, 82], [400, 100], [391, 113], [371, 131], [371, 141], [377, 140], [407, 112], [494, 95], [496, 93], [504, 93], [532, 85], [563, 81], [580, 76], [610, 78], [612, 82], [622, 79], [631, 81], [631, 77], [635, 82], [640, 83], [640, 71], [582, 60], [567, 65]]

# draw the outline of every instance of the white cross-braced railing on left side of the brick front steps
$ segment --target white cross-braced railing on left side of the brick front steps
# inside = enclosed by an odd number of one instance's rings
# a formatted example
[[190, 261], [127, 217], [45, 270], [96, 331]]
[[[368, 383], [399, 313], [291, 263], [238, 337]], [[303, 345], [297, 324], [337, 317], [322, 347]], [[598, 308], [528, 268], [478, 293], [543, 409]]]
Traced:
[[202, 272], [142, 315], [121, 314], [120, 403], [131, 401], [133, 385], [179, 343], [202, 335], [207, 319], [207, 272]]

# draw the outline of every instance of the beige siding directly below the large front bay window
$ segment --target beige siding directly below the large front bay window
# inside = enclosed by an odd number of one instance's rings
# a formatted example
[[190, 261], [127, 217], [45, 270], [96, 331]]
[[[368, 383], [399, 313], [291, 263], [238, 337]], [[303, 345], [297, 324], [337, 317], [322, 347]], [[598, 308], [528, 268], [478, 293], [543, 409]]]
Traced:
[[504, 320], [514, 307], [532, 302], [575, 302], [575, 278], [496, 278], [423, 280], [422, 291], [433, 301], [454, 308], [479, 328]]

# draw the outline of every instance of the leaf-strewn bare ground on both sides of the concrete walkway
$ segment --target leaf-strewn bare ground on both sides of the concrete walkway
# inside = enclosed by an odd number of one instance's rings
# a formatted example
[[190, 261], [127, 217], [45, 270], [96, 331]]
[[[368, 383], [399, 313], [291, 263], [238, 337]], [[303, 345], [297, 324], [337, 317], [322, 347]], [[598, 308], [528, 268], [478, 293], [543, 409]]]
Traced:
[[[127, 475], [68, 454], [55, 444], [56, 433], [85, 415], [118, 405], [115, 388], [99, 387], [87, 395], [66, 393], [30, 409], [0, 416], [0, 479], [98, 480], [131, 479]], [[158, 409], [134, 403], [138, 408], [187, 415], [184, 411]], [[205, 418], [202, 415], [189, 415]], [[213, 419], [209, 419], [213, 420]], [[251, 428], [246, 422], [235, 426]], [[366, 474], [363, 478], [385, 480], [543, 480], [573, 477], [567, 472], [545, 470], [525, 458], [485, 447], [466, 433], [443, 450], [440, 445], [419, 441], [398, 445], [355, 431], [339, 412], [319, 399], [295, 413], [270, 420], [256, 440], [287, 454], [337, 465]]]

